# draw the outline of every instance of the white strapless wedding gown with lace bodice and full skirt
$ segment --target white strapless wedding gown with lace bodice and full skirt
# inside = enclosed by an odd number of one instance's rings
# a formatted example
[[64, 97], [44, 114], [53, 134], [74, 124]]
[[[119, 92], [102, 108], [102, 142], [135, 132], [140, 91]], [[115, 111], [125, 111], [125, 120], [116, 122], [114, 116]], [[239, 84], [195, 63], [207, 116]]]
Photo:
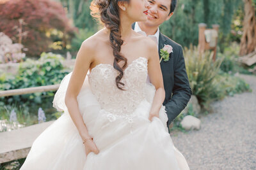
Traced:
[[138, 57], [124, 70], [126, 90], [115, 84], [118, 75], [110, 64], [99, 64], [86, 76], [77, 96], [89, 134], [99, 148], [87, 157], [83, 141], [65, 106], [65, 92], [72, 72], [61, 81], [53, 106], [64, 111], [31, 146], [21, 170], [171, 170], [189, 169], [173, 146], [166, 127], [164, 106], [159, 118], [148, 120], [156, 91], [147, 83], [147, 59]]

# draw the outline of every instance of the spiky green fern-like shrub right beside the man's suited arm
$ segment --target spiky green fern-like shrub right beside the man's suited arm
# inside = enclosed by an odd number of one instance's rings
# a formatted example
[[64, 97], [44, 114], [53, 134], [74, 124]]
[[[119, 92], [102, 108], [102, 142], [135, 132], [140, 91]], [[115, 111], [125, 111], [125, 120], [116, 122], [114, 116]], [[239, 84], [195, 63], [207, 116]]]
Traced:
[[[217, 58], [213, 62], [213, 53], [206, 51], [201, 54], [196, 47], [185, 48], [184, 56], [186, 61], [186, 71], [193, 94], [200, 104], [207, 104], [211, 101], [211, 96], [216, 93], [214, 78], [220, 71], [223, 59]], [[218, 92], [217, 92], [218, 93]]]

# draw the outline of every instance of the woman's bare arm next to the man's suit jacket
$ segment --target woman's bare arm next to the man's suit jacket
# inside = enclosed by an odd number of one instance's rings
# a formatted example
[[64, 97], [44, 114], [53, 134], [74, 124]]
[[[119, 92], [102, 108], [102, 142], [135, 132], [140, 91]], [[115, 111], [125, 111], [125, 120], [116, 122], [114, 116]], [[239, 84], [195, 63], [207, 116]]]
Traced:
[[160, 108], [164, 102], [165, 91], [161, 67], [159, 64], [159, 54], [154, 41], [149, 41], [148, 49], [148, 76], [151, 83], [156, 87], [155, 96], [150, 109], [149, 119], [159, 116]]

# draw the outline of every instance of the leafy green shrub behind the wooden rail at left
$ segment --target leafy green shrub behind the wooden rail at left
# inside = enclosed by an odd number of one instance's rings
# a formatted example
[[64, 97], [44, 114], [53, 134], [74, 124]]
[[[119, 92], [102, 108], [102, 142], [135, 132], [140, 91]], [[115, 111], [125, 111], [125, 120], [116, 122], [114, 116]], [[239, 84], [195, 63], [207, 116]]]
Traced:
[[[8, 73], [1, 74], [0, 90], [58, 84], [69, 73], [61, 64], [61, 60], [63, 57], [54, 53], [42, 53], [39, 60], [28, 59], [26, 62], [20, 63], [16, 76]], [[42, 98], [52, 96], [54, 96], [54, 92], [36, 92], [21, 96], [0, 97], [0, 102], [4, 102], [4, 104], [13, 102], [42, 103]]]

